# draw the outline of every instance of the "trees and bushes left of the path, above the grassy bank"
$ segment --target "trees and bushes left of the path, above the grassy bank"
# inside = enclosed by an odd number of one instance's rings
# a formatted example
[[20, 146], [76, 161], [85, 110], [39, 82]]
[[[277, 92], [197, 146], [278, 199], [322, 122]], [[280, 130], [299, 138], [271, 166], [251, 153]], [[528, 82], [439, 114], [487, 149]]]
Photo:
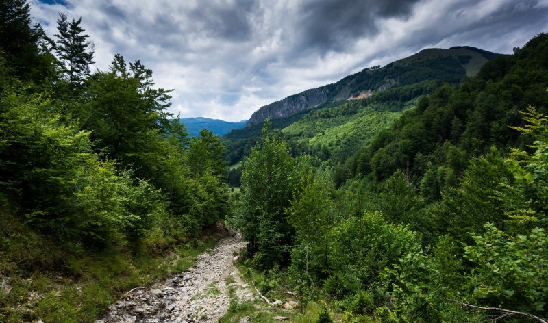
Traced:
[[92, 72], [80, 19], [60, 14], [49, 36], [26, 1], [2, 1], [0, 15], [1, 250], [32, 232], [75, 252], [144, 240], [164, 248], [225, 216], [219, 138], [190, 137], [149, 68], [116, 54]]

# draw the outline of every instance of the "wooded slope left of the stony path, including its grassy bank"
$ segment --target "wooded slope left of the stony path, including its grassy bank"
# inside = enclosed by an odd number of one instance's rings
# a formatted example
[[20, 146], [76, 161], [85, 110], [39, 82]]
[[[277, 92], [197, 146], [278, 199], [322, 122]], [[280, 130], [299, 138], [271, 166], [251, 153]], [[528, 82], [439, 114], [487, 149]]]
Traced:
[[[116, 54], [92, 73], [81, 18], [60, 14], [50, 37], [26, 1], [0, 14], [0, 278], [12, 288], [0, 321], [92, 322], [124, 290], [188, 267], [160, 266], [175, 246], [205, 248], [197, 237], [229, 209], [224, 147], [188, 135], [140, 61]], [[46, 296], [17, 306], [36, 289]]]

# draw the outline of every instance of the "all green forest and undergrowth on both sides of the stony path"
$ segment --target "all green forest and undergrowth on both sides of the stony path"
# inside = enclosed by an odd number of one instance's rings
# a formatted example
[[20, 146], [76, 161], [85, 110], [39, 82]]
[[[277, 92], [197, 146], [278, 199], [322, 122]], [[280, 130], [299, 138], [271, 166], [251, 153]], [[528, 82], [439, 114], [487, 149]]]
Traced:
[[546, 322], [547, 34], [222, 141], [190, 136], [139, 60], [92, 72], [82, 18], [0, 15], [1, 322], [99, 320], [220, 226], [258, 292], [319, 308], [301, 322]]

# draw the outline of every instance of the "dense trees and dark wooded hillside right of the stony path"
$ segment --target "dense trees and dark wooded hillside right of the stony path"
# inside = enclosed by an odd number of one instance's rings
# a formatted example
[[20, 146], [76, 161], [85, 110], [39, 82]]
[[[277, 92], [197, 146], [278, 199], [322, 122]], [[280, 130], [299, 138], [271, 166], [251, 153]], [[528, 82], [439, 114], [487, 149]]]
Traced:
[[326, 298], [345, 322], [545, 315], [547, 52], [539, 34], [440, 86], [333, 172], [267, 123], [230, 219], [262, 292]]

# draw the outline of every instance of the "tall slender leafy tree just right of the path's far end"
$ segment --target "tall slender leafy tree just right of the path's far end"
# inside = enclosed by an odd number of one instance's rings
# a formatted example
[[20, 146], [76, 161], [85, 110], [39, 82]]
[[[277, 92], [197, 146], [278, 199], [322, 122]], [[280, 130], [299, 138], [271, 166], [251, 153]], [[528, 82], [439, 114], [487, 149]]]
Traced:
[[286, 220], [295, 179], [295, 159], [279, 135], [262, 130], [262, 140], [242, 161], [242, 189], [235, 222], [257, 266], [288, 261], [292, 227]]

